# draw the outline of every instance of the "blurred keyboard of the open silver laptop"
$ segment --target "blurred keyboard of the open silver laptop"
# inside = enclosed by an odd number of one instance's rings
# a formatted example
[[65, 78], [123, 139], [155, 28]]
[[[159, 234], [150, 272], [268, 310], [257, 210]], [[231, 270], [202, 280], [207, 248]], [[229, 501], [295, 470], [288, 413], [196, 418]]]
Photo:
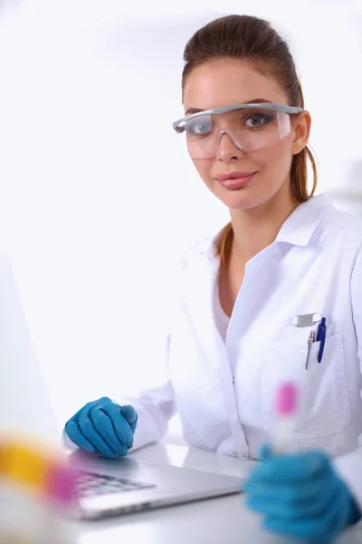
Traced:
[[81, 471], [76, 481], [77, 491], [80, 497], [91, 495], [104, 495], [106, 493], [119, 493], [123, 491], [137, 491], [156, 487], [152, 483], [117, 478], [108, 474]]

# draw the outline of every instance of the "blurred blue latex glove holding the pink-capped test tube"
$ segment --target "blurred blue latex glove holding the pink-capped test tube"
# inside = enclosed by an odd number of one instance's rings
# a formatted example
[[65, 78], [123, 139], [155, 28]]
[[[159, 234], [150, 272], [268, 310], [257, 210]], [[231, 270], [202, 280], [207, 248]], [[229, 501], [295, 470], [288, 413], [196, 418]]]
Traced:
[[243, 489], [249, 508], [263, 514], [265, 529], [308, 542], [329, 544], [361, 517], [324, 453], [272, 456], [264, 446]]

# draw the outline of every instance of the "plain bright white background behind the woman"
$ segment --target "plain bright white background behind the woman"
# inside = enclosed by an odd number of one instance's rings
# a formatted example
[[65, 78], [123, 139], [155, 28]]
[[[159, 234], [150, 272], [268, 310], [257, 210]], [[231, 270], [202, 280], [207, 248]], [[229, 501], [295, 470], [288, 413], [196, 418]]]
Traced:
[[178, 259], [228, 220], [171, 129], [199, 26], [247, 13], [288, 39], [319, 192], [362, 214], [362, 2], [135, 4], [0, 1], [0, 241], [60, 427], [157, 382]]

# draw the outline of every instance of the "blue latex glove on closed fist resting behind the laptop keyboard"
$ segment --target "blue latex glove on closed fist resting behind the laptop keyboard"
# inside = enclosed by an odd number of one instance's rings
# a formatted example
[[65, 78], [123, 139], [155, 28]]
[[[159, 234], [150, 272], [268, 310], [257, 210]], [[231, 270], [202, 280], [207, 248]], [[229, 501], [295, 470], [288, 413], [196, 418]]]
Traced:
[[115, 459], [133, 445], [138, 415], [133, 406], [119, 406], [108, 397], [87, 403], [65, 424], [65, 432], [82, 450]]

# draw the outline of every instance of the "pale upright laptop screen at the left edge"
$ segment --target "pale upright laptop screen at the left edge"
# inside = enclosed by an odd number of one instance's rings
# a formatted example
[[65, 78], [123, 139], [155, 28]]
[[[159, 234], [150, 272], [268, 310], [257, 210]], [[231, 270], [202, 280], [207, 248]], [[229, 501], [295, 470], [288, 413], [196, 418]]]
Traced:
[[60, 442], [11, 261], [0, 253], [0, 435], [4, 432]]

